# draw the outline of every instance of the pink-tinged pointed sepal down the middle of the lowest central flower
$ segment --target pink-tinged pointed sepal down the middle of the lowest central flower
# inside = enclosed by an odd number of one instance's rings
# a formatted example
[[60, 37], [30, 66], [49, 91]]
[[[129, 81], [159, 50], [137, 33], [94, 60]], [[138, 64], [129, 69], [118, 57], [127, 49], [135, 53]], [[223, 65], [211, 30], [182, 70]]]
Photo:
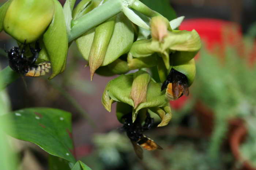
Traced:
[[137, 71], [133, 74], [131, 98], [135, 109], [140, 103], [146, 102], [147, 87], [150, 80], [151, 76], [146, 71]]

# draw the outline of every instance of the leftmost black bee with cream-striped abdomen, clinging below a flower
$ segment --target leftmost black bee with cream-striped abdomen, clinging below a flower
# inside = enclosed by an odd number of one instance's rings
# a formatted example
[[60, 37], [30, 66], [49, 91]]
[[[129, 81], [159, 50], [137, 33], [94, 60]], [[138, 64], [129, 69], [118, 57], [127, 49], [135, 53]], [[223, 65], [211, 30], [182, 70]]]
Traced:
[[32, 56], [28, 58], [25, 56], [26, 41], [23, 44], [22, 50], [19, 47], [12, 47], [9, 51], [6, 51], [9, 58], [9, 66], [12, 70], [18, 72], [19, 74], [31, 77], [38, 77], [45, 75], [49, 72], [50, 63], [43, 62], [35, 64], [35, 61], [38, 58], [41, 48], [39, 43], [35, 43], [35, 48], [29, 45], [30, 52]]

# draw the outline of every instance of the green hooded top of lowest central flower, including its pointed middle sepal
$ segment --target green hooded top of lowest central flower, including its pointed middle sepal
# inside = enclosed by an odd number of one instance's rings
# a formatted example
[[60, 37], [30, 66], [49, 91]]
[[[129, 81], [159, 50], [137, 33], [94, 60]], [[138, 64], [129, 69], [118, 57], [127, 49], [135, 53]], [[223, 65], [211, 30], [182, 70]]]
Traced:
[[[114, 101], [127, 103], [135, 112], [142, 108], [165, 106], [165, 92], [161, 92], [161, 83], [150, 79], [145, 71], [136, 74], [121, 75], [111, 80], [102, 95], [102, 104], [111, 111]], [[145, 99], [146, 98], [146, 99]]]

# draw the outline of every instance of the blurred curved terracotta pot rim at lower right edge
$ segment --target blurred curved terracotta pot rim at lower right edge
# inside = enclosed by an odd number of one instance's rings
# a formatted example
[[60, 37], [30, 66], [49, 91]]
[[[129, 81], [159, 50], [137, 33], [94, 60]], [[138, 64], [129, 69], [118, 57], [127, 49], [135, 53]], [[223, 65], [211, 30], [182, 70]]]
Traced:
[[243, 123], [233, 129], [233, 132], [230, 134], [229, 143], [231, 151], [237, 161], [242, 162], [243, 170], [256, 170], [256, 167], [252, 166], [252, 163], [249, 160], [242, 158], [240, 152], [240, 146], [244, 142], [247, 135], [247, 129]]

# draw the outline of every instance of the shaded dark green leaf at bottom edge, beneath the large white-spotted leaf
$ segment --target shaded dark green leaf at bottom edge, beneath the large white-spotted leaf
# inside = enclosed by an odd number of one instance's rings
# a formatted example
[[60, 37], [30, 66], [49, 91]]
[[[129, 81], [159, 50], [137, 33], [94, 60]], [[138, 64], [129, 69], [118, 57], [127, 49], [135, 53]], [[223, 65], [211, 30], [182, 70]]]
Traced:
[[50, 154], [48, 155], [48, 166], [49, 170], [70, 170], [67, 160]]

